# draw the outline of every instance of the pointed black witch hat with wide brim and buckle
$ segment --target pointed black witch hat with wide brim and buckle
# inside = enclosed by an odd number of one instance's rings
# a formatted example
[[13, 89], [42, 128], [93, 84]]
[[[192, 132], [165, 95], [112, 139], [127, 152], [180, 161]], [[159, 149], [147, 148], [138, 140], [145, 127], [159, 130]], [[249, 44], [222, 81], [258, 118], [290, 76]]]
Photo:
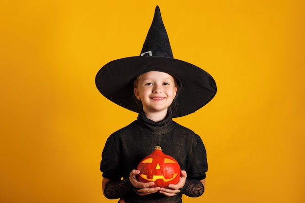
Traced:
[[99, 92], [115, 104], [139, 112], [141, 109], [135, 102], [133, 80], [149, 71], [171, 74], [181, 83], [172, 117], [197, 111], [216, 94], [216, 83], [210, 74], [191, 63], [173, 58], [158, 6], [140, 56], [109, 62], [96, 74], [95, 84]]

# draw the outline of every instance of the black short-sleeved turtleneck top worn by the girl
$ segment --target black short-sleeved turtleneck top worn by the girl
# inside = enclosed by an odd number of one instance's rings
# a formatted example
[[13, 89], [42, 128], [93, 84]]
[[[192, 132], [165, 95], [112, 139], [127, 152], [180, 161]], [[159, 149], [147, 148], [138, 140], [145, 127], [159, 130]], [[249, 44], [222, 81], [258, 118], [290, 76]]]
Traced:
[[[186, 170], [188, 179], [202, 180], [208, 170], [206, 149], [201, 138], [190, 129], [172, 121], [169, 111], [166, 118], [154, 122], [141, 111], [137, 120], [117, 130], [108, 139], [102, 152], [100, 170], [111, 180], [129, 178], [140, 161], [160, 146], [163, 153], [172, 156]], [[126, 203], [179, 203], [182, 194], [166, 197], [160, 193], [139, 196], [131, 191]], [[164, 199], [161, 201], [160, 199]]]

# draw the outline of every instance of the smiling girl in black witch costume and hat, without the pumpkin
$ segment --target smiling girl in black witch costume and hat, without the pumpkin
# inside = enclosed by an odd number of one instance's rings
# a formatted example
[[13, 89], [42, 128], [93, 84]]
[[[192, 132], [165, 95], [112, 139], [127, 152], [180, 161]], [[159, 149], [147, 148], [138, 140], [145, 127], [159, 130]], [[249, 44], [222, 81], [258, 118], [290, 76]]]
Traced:
[[[105, 144], [103, 192], [109, 199], [120, 198], [119, 203], [181, 203], [182, 194], [203, 194], [208, 165], [201, 138], [172, 117], [203, 107], [214, 97], [216, 84], [207, 72], [172, 57], [158, 6], [141, 53], [106, 64], [95, 78], [105, 97], [139, 112], [137, 120], [114, 132]], [[136, 178], [140, 171], [135, 168], [155, 146], [181, 168], [179, 182], [168, 188]]]

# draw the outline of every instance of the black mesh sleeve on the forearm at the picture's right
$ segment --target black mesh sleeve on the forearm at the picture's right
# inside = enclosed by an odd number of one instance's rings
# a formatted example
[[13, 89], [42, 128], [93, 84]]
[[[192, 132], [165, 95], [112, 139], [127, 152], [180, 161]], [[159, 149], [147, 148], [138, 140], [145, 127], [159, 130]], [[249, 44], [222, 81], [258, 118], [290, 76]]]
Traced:
[[205, 188], [202, 183], [196, 179], [187, 179], [181, 192], [189, 197], [199, 197], [203, 194]]

